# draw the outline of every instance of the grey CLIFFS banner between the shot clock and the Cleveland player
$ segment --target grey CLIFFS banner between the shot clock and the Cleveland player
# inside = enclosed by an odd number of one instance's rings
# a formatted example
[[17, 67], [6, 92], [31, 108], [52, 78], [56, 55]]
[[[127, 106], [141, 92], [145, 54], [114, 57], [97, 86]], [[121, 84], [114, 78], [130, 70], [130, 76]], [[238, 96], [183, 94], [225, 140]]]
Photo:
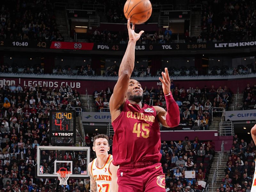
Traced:
[[82, 122], [111, 122], [109, 112], [83, 112]]

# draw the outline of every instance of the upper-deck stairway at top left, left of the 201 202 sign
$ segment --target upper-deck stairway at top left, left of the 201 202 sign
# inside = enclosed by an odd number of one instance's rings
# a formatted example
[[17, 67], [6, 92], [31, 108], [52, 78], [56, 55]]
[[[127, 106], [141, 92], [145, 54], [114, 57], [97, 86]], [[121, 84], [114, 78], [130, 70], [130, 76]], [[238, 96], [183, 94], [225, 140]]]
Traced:
[[68, 28], [66, 24], [65, 11], [56, 10], [55, 20], [57, 24], [57, 29], [59, 29], [60, 34], [64, 37], [65, 41], [73, 42], [74, 40], [68, 35]]

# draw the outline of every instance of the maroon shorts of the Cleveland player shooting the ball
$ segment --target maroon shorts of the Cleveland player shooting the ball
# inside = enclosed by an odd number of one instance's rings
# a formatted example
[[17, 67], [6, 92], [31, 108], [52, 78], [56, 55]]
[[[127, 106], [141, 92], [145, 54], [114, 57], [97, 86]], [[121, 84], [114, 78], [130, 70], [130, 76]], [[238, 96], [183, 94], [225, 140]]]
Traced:
[[165, 175], [161, 163], [120, 165], [117, 177], [119, 192], [165, 192]]

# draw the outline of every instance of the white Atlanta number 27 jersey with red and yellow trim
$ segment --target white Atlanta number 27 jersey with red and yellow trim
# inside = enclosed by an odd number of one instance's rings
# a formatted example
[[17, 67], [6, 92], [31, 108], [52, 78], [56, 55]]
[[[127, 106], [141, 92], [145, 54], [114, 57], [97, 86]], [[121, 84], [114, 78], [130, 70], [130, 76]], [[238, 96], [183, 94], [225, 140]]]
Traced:
[[98, 192], [111, 192], [112, 174], [109, 171], [109, 166], [113, 161], [113, 156], [108, 155], [107, 161], [102, 168], [99, 168], [97, 158], [92, 161], [91, 172], [97, 184]]

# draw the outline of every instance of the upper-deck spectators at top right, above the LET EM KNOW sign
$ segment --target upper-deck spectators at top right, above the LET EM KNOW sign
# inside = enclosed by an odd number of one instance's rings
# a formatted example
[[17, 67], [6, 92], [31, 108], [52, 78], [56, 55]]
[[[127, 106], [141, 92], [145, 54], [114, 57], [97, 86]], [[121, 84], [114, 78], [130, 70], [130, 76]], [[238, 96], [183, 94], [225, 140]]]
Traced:
[[253, 1], [191, 0], [190, 3], [203, 6], [198, 43], [255, 39], [256, 5]]

